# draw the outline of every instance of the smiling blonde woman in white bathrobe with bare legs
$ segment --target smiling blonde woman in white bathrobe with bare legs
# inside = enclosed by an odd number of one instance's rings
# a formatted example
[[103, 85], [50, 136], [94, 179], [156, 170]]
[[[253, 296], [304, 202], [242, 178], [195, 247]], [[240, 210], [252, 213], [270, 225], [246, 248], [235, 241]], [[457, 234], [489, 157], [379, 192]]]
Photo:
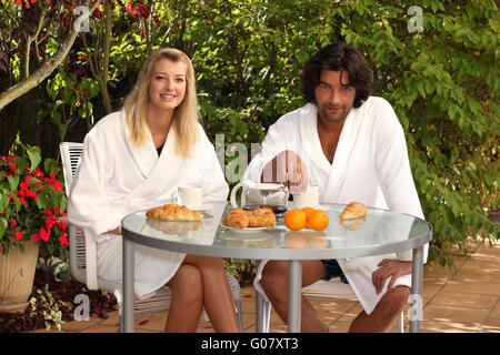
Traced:
[[[98, 243], [98, 275], [121, 282], [121, 219], [162, 205], [179, 185], [203, 187], [224, 201], [229, 187], [213, 145], [198, 123], [194, 70], [176, 49], [159, 49], [139, 73], [123, 110], [87, 134], [72, 186], [71, 223]], [[172, 302], [166, 332], [196, 332], [204, 306], [216, 332], [238, 332], [221, 258], [136, 247], [138, 297], [166, 284]]]

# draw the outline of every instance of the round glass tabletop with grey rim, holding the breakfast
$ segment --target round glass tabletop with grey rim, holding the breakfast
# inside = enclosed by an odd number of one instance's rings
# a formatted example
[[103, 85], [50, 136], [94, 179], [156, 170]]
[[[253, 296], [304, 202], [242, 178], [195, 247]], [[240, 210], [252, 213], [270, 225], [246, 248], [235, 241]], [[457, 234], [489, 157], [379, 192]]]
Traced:
[[122, 220], [126, 240], [188, 254], [273, 260], [359, 257], [402, 252], [431, 239], [432, 226], [421, 219], [368, 207], [363, 219], [341, 221], [344, 204], [323, 204], [330, 223], [321, 232], [292, 232], [282, 219], [273, 229], [239, 231], [222, 225], [231, 210], [228, 202], [210, 202], [199, 222], [166, 222], [146, 217], [147, 211]]

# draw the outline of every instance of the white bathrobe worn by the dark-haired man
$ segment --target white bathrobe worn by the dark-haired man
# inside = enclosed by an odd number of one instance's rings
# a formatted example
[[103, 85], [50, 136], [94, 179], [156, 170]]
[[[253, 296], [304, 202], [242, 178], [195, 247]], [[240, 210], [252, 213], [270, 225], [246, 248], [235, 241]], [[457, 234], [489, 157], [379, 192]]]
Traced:
[[[311, 185], [320, 189], [320, 202], [363, 202], [367, 206], [389, 209], [423, 219], [413, 183], [404, 134], [388, 101], [370, 97], [360, 108], [351, 109], [340, 134], [333, 162], [324, 156], [318, 136], [318, 109], [307, 104], [284, 114], [269, 128], [262, 151], [251, 161], [244, 180], [260, 181], [263, 166], [279, 152], [298, 153], [307, 164]], [[408, 230], [410, 226], [408, 226]], [[424, 248], [427, 261], [428, 245]], [[411, 261], [411, 251], [380, 256], [339, 260], [350, 286], [367, 314], [387, 291], [376, 294], [371, 274], [382, 258]], [[259, 265], [256, 287], [264, 263]], [[398, 278], [396, 285], [411, 286], [411, 275]]]

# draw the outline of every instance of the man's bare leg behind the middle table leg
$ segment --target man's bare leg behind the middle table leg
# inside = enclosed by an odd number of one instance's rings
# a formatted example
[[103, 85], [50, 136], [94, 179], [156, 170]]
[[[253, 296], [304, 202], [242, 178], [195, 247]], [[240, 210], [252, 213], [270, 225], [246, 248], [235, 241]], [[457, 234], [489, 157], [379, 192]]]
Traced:
[[[261, 285], [274, 311], [287, 323], [288, 320], [288, 265], [287, 261], [270, 261], [262, 272]], [[327, 276], [327, 268], [319, 260], [302, 261], [302, 287]], [[327, 329], [314, 307], [302, 296], [301, 331], [321, 333]]]

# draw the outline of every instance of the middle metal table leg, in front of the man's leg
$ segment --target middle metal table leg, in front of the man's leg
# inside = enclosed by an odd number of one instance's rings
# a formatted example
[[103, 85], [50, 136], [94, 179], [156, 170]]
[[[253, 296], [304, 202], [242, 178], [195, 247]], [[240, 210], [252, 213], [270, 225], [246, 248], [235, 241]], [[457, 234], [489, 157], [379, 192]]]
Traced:
[[288, 268], [288, 332], [300, 333], [302, 261], [291, 260]]

